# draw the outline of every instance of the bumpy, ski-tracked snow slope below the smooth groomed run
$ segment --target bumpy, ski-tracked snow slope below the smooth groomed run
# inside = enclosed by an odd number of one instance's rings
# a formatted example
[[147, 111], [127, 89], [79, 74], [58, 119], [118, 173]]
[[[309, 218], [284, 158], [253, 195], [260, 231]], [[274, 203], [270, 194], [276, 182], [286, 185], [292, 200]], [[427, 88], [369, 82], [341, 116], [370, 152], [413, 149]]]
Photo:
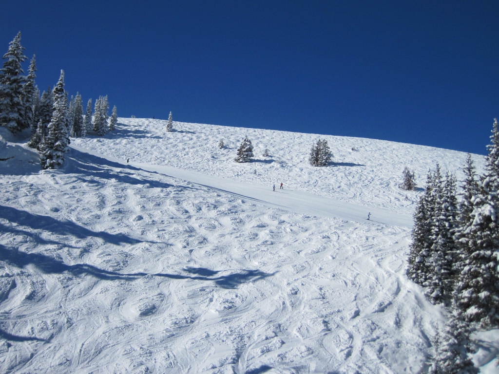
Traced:
[[1, 329], [21, 342], [0, 347], [2, 371], [420, 368], [431, 326], [403, 276], [407, 228], [80, 156], [3, 200], [1, 259], [15, 287], [0, 300]]

